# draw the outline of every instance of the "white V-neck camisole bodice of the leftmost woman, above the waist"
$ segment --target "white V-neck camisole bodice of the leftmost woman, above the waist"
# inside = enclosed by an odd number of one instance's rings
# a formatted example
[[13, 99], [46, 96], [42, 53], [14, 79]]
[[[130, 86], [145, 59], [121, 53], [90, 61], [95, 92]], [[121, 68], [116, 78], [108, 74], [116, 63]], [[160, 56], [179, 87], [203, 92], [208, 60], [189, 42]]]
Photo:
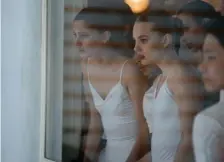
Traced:
[[87, 64], [89, 87], [95, 107], [101, 116], [104, 138], [107, 140], [135, 139], [137, 136], [137, 121], [133, 103], [121, 83], [123, 68], [127, 62], [128, 60], [121, 67], [118, 83], [114, 85], [105, 99], [101, 98], [91, 84]]

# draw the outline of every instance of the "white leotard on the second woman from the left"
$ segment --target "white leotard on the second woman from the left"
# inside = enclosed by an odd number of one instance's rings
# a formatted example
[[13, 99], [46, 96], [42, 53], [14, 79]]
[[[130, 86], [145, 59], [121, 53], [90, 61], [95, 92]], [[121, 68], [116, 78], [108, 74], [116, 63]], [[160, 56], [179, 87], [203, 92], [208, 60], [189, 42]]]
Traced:
[[173, 162], [181, 139], [178, 106], [168, 88], [167, 80], [161, 85], [157, 96], [155, 94], [156, 89], [148, 119], [153, 132], [152, 162]]

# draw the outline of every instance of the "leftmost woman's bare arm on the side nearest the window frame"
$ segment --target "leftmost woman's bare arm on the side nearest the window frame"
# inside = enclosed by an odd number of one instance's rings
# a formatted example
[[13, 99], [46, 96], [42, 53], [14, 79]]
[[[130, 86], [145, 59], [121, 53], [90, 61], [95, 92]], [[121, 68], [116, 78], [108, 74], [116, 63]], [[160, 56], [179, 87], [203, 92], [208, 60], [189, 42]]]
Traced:
[[91, 91], [88, 85], [86, 64], [82, 63], [82, 72], [83, 72], [83, 82], [84, 82], [84, 92], [85, 92], [85, 100], [88, 102], [89, 106], [89, 116], [90, 122], [88, 125], [88, 133], [84, 141], [84, 162], [97, 161], [99, 156], [98, 147], [101, 140], [102, 135], [102, 125], [101, 118], [99, 113], [97, 112], [93, 98], [91, 95]]

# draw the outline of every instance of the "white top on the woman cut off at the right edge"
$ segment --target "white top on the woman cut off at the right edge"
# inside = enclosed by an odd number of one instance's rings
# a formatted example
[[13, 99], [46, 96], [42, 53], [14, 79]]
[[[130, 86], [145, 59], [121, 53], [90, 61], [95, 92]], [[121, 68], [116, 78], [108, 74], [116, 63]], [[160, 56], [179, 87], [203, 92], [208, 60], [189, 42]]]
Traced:
[[[223, 93], [223, 92], [222, 92]], [[202, 111], [194, 122], [193, 142], [197, 162], [224, 161], [224, 101]]]

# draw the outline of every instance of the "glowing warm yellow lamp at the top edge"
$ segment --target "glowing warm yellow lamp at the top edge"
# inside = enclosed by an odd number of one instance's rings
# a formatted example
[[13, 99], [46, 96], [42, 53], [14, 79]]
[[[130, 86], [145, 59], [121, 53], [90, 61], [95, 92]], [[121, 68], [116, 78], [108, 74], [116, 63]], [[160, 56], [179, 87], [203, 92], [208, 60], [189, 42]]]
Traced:
[[134, 13], [140, 13], [149, 6], [149, 0], [125, 0], [125, 3]]

